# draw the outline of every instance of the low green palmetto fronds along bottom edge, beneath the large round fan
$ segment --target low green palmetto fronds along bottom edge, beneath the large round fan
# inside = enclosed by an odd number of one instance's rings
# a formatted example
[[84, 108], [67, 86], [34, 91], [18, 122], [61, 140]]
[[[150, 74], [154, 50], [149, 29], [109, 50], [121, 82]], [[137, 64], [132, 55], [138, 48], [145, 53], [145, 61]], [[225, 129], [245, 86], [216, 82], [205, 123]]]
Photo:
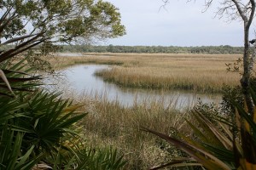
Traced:
[[[44, 162], [53, 169], [77, 169], [77, 170], [117, 170], [122, 169], [127, 161], [120, 156], [118, 150], [112, 147], [92, 148], [84, 143], [84, 139], [68, 136], [64, 145], [58, 152], [48, 157]], [[67, 150], [68, 149], [68, 150]], [[46, 164], [40, 164], [40, 166]]]

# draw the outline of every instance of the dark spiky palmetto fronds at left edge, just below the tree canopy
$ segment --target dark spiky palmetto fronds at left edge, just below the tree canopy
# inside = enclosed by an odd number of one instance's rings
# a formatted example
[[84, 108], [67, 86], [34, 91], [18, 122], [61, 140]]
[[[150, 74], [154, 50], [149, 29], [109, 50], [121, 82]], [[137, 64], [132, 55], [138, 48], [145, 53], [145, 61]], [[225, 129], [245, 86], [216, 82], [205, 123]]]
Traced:
[[[20, 45], [10, 45], [14, 42], [22, 42], [28, 37], [34, 37], [34, 35], [15, 37], [9, 41], [0, 44], [1, 47], [8, 47], [5, 50], [0, 50], [0, 95], [14, 97], [14, 91], [27, 91], [34, 88], [35, 84], [31, 84], [32, 80], [38, 80], [40, 77], [33, 77], [28, 75], [30, 69], [26, 68], [24, 64], [25, 59], [17, 59], [17, 62], [13, 65], [9, 65], [9, 59], [14, 58], [18, 54], [22, 54], [28, 48], [32, 48], [37, 44], [36, 37], [34, 41], [28, 41], [26, 43], [21, 43]], [[22, 71], [23, 70], [23, 71]]]

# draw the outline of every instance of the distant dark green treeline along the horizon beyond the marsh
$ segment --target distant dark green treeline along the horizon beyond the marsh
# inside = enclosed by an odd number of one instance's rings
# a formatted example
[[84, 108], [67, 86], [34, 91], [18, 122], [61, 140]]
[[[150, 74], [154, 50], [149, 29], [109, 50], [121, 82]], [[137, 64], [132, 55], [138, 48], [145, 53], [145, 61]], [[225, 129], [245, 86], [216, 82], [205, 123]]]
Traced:
[[242, 54], [243, 47], [201, 46], [92, 46], [92, 45], [63, 45], [59, 52], [71, 53], [148, 53], [148, 54]]

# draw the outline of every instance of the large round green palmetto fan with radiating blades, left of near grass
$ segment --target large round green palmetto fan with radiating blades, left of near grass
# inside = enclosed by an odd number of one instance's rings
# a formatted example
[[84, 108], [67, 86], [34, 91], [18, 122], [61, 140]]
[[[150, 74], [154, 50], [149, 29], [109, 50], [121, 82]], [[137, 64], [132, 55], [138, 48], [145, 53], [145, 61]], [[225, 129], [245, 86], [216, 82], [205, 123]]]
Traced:
[[56, 151], [64, 133], [75, 134], [70, 127], [86, 115], [76, 112], [82, 105], [71, 105], [72, 102], [61, 99], [60, 94], [38, 91], [21, 98], [27, 107], [23, 108], [25, 117], [17, 118], [17, 127], [26, 129], [26, 148], [35, 145], [37, 152]]

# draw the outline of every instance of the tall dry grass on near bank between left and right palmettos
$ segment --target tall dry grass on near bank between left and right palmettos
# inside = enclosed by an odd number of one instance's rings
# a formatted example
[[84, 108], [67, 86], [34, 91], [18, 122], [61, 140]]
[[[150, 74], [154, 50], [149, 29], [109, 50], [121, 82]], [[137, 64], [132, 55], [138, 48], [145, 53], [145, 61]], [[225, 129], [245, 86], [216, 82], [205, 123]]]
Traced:
[[177, 154], [173, 150], [170, 155], [163, 141], [144, 133], [141, 127], [158, 129], [163, 133], [172, 133], [171, 127], [177, 127], [189, 133], [189, 129], [183, 126], [183, 118], [188, 118], [189, 114], [166, 107], [160, 100], [141, 104], [135, 100], [133, 106], [124, 107], [118, 101], [109, 102], [104, 94], [95, 94], [94, 98], [83, 94], [79, 98], [81, 102], [84, 103], [83, 111], [88, 112], [80, 122], [84, 126], [87, 143], [92, 147], [112, 145], [117, 148], [129, 160], [125, 169], [147, 169]]

